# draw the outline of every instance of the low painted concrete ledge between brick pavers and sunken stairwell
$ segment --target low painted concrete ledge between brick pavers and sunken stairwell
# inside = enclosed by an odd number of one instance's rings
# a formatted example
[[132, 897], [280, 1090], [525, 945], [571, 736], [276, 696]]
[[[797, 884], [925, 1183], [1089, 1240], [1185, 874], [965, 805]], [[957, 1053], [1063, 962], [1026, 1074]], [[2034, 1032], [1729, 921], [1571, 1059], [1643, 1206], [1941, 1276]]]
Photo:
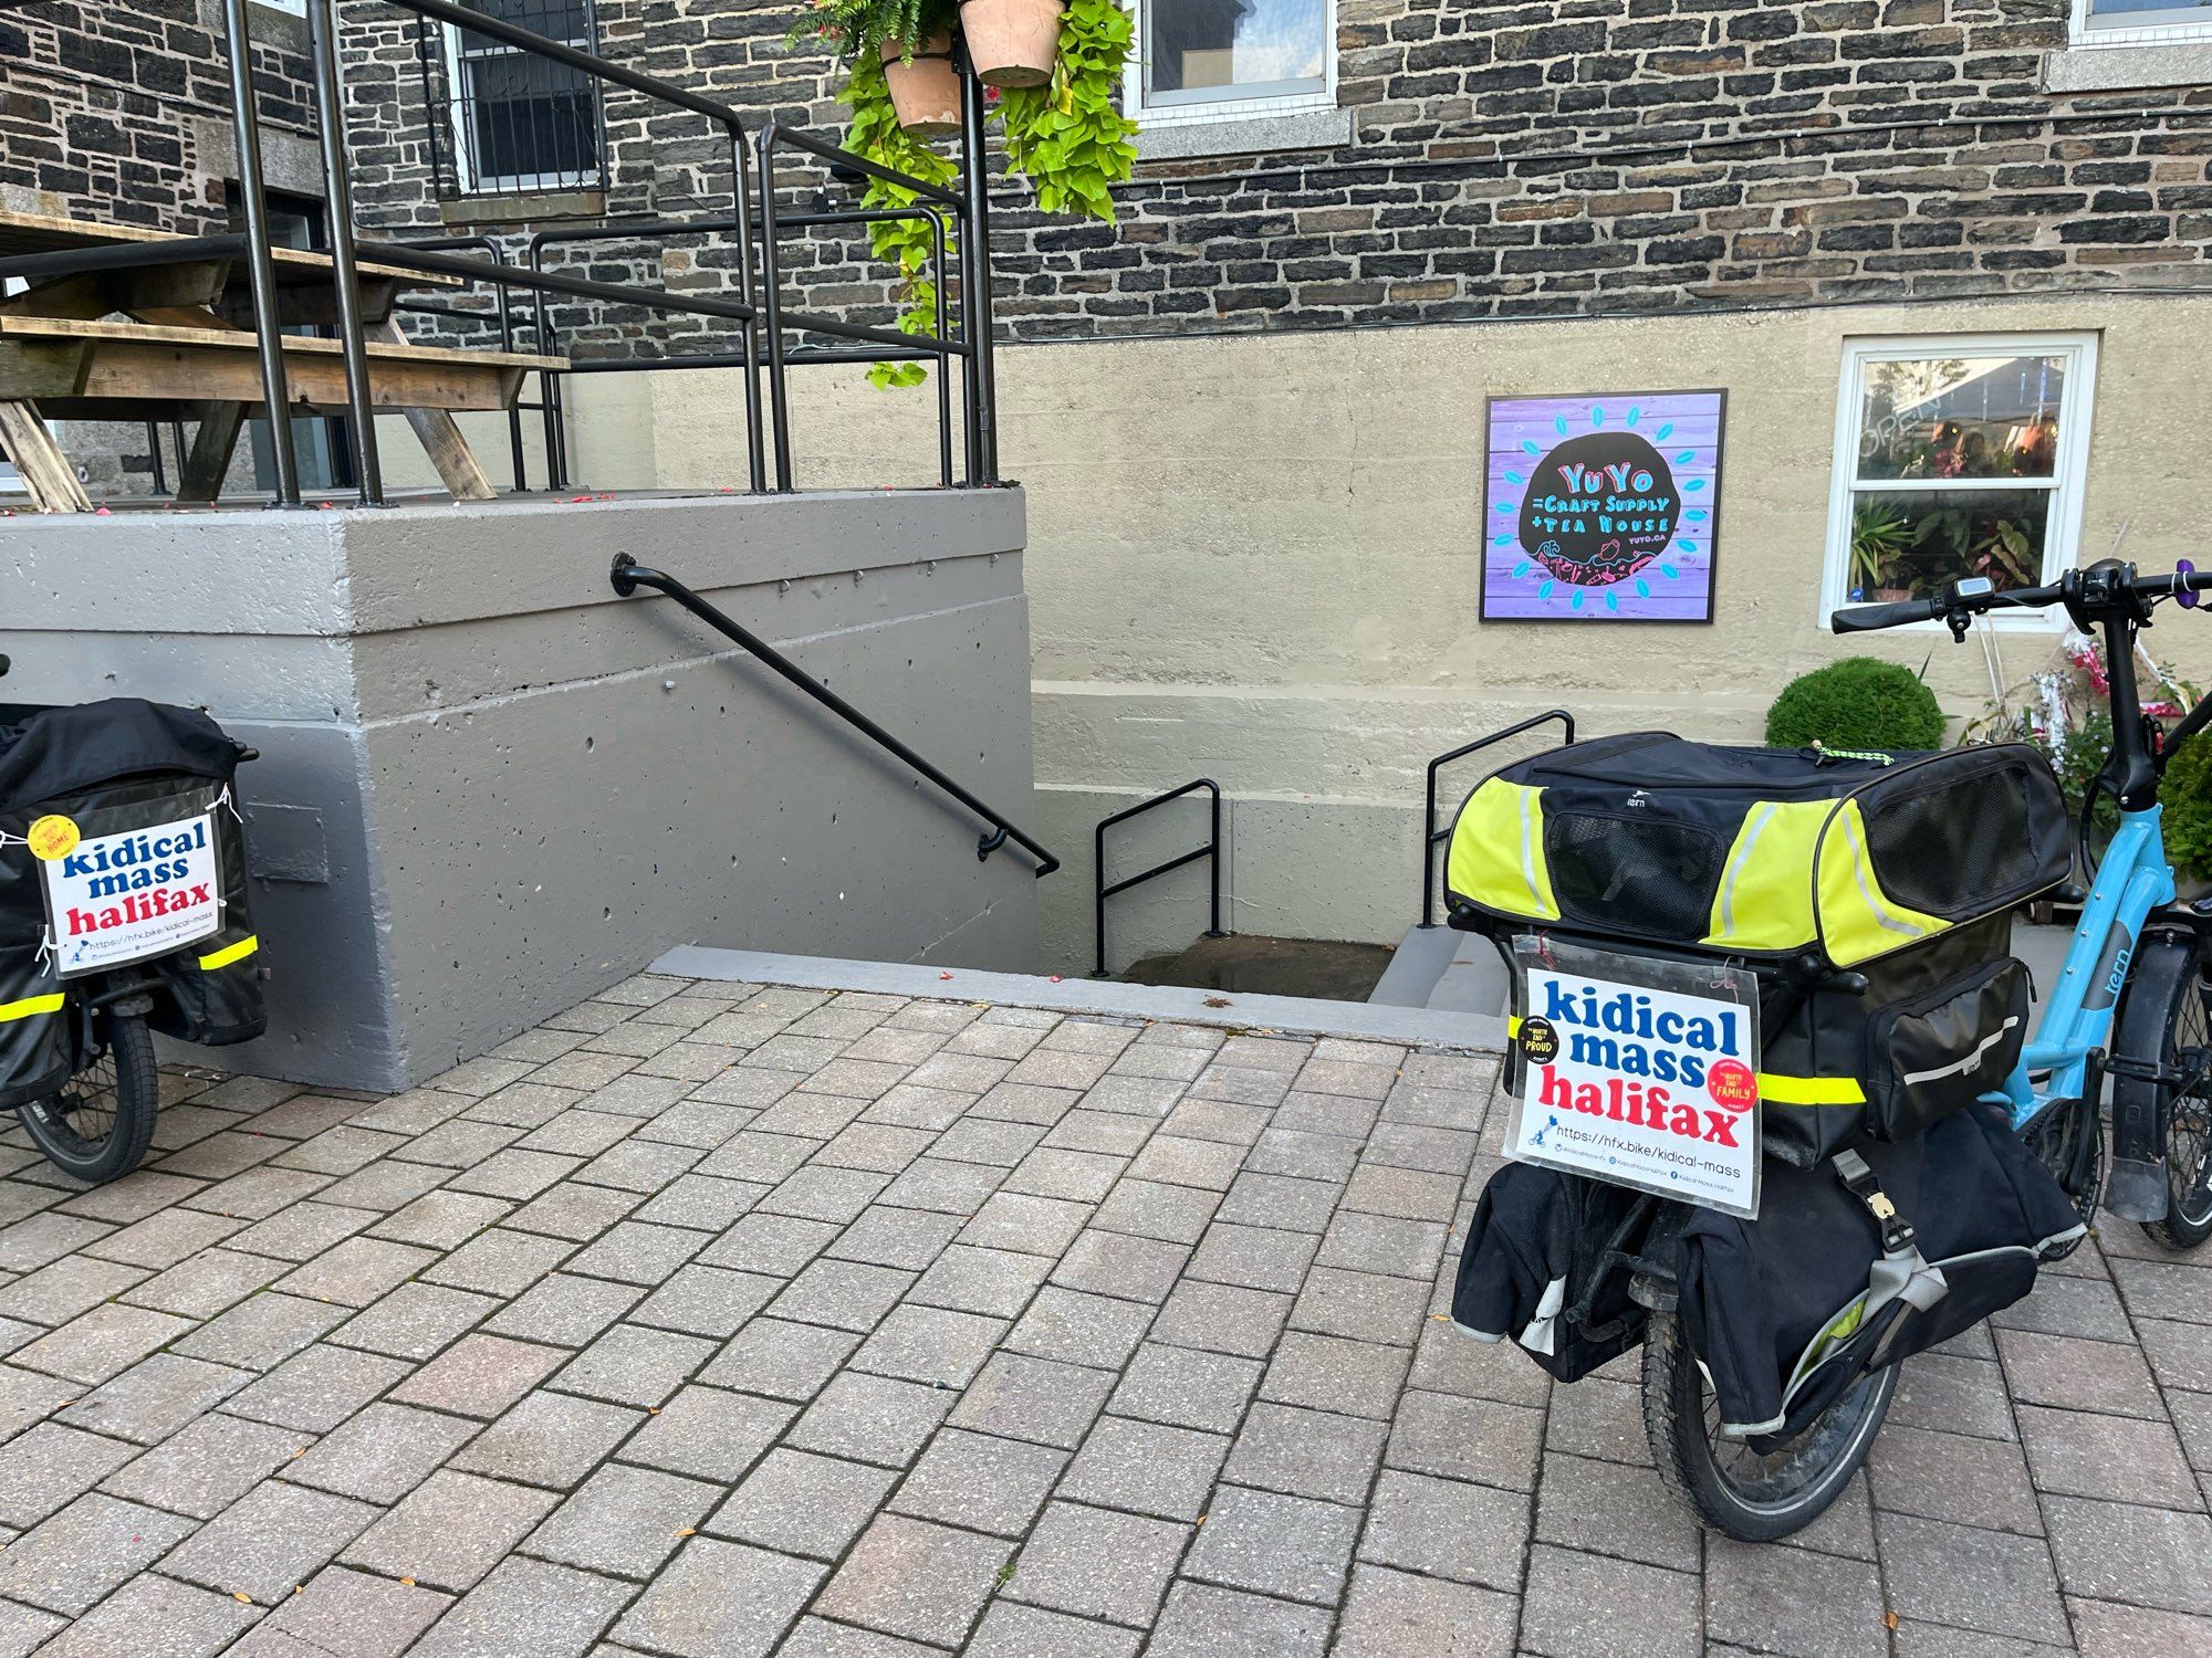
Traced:
[[[1263, 997], [1219, 990], [1186, 990], [1161, 984], [1115, 984], [1110, 979], [1044, 979], [1029, 973], [982, 973], [905, 962], [841, 962], [830, 955], [774, 955], [770, 951], [717, 951], [679, 944], [653, 964], [653, 973], [677, 979], [728, 979], [732, 984], [787, 984], [803, 990], [876, 990], [938, 1001], [995, 1001], [1009, 1008], [1053, 1012], [1104, 1012], [1121, 1019], [1172, 1019], [1186, 1026], [1232, 1030], [1281, 1030], [1312, 1037], [1365, 1037], [1418, 1048], [1462, 1048], [1502, 1052], [1506, 1021], [1436, 1008], [1387, 1008], [1374, 1001], [1316, 1001], [1312, 997]], [[1225, 1006], [1210, 1006], [1223, 1001]]]

